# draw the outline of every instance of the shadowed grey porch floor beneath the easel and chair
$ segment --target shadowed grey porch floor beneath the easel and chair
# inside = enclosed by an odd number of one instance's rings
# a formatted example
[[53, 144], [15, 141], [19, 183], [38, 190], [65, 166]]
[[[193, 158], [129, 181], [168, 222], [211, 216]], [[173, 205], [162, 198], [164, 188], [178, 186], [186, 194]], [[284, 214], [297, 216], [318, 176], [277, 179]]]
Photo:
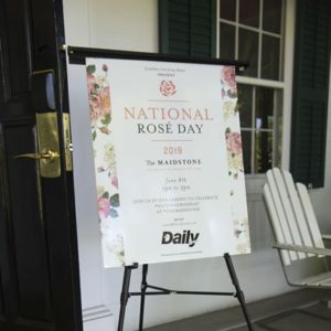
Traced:
[[[330, 331], [331, 290], [296, 290], [247, 305], [254, 331]], [[239, 307], [214, 311], [146, 331], [246, 331]]]

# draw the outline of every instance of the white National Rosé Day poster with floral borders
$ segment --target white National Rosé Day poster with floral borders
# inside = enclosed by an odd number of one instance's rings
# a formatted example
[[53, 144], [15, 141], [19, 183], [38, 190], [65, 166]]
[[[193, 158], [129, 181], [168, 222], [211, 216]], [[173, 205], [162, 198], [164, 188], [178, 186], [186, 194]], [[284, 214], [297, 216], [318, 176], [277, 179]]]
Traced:
[[105, 266], [249, 253], [235, 68], [86, 70]]

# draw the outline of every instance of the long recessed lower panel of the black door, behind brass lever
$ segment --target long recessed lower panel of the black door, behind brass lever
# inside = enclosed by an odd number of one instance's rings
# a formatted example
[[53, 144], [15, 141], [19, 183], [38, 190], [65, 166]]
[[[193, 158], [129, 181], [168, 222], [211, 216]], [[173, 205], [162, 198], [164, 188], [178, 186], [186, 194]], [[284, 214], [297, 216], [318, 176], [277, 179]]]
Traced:
[[25, 319], [51, 320], [50, 274], [45, 243], [46, 220], [43, 218], [41, 209], [42, 192], [38, 163], [28, 159], [14, 159], [14, 156], [22, 151], [35, 150], [34, 127], [28, 122], [7, 127], [4, 141], [12, 202], [9, 224], [12, 228], [12, 237], [9, 237], [9, 242], [13, 243], [18, 316]]

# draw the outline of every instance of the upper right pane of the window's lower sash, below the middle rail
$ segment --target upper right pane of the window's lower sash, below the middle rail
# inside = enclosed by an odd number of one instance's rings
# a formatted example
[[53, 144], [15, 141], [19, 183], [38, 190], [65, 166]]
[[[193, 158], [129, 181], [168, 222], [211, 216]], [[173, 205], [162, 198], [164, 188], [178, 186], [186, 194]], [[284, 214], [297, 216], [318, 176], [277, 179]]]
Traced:
[[274, 89], [256, 87], [255, 128], [274, 128]]

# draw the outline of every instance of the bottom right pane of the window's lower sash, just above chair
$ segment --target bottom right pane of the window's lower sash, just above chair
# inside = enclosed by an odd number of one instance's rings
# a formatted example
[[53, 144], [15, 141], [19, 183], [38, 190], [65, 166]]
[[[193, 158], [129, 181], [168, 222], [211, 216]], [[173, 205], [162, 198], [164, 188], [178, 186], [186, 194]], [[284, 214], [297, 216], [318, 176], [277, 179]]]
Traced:
[[273, 168], [273, 132], [256, 131], [255, 173], [264, 173]]

